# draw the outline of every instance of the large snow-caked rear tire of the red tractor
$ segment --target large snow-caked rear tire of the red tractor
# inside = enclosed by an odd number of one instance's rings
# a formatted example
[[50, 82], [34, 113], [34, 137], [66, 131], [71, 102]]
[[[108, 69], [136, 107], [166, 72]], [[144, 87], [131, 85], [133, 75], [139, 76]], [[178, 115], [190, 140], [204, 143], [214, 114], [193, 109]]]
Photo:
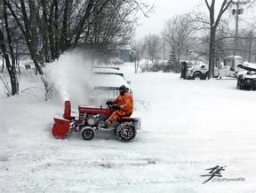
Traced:
[[136, 128], [130, 122], [121, 123], [116, 127], [116, 137], [120, 142], [131, 142], [137, 134]]

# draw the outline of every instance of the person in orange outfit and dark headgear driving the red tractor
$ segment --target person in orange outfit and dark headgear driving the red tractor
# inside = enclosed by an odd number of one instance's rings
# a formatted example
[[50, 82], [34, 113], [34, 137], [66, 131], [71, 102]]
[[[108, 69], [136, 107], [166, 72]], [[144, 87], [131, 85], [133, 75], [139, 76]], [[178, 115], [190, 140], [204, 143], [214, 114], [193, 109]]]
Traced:
[[120, 117], [130, 117], [132, 115], [133, 98], [132, 94], [129, 92], [129, 89], [122, 85], [119, 87], [119, 94], [120, 95], [116, 99], [106, 102], [107, 105], [113, 105], [115, 111], [112, 112], [106, 122], [100, 122], [99, 127], [109, 127], [112, 122], [118, 120]]

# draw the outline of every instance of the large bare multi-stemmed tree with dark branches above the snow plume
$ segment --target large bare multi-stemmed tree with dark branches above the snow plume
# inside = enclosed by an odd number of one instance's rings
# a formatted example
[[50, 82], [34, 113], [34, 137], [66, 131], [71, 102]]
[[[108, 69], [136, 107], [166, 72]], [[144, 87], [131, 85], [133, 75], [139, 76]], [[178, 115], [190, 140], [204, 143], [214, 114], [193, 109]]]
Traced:
[[50, 88], [44, 79], [44, 62], [76, 46], [90, 44], [106, 50], [128, 42], [136, 13], [148, 10], [139, 0], [2, 1], [20, 28], [46, 96]]

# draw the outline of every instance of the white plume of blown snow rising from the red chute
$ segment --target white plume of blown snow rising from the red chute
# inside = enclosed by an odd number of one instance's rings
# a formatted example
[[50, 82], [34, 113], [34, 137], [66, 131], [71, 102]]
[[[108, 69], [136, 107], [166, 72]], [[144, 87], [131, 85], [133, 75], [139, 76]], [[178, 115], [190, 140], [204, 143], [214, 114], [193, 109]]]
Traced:
[[72, 50], [48, 64], [46, 74], [57, 99], [60, 97], [61, 102], [70, 100], [72, 104], [89, 104], [93, 62], [85, 50]]

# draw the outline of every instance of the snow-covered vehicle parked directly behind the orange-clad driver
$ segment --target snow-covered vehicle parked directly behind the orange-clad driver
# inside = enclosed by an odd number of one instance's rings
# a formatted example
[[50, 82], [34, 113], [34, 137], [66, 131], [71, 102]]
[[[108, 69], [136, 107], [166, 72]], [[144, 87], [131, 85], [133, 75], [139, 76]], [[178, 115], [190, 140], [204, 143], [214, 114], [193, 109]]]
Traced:
[[92, 92], [90, 93], [91, 104], [105, 104], [107, 100], [119, 95], [119, 87], [124, 85], [130, 92], [131, 81], [127, 81], [124, 73], [116, 66], [96, 66], [92, 75]]

